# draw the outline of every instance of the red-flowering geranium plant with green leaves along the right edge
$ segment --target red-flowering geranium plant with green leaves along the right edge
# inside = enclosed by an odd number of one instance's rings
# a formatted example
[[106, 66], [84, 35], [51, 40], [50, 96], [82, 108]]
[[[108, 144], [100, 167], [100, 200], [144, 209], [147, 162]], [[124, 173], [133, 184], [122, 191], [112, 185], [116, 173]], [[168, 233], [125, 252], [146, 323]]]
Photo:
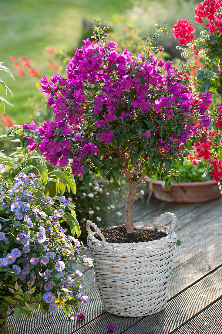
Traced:
[[[191, 161], [196, 165], [201, 161], [204, 164], [205, 171], [210, 171], [214, 181], [220, 181], [222, 178], [222, 6], [221, 0], [204, 0], [199, 3], [195, 10], [196, 23], [202, 24], [202, 18], [208, 18], [209, 23], [203, 30], [201, 36], [194, 39], [190, 33], [192, 24], [181, 26], [179, 20], [172, 29], [174, 37], [179, 37], [179, 44], [187, 43], [188, 48], [181, 49], [182, 55], [188, 56], [188, 53], [199, 63], [196, 72], [191, 71], [188, 77], [190, 89], [197, 95], [199, 103], [203, 102], [204, 94], [207, 91], [213, 94], [213, 103], [208, 114], [212, 123], [205, 128], [205, 137], [199, 136], [204, 130], [203, 125], [196, 124], [197, 133], [193, 144], [193, 153], [190, 155]], [[186, 20], [182, 20], [186, 21]]]

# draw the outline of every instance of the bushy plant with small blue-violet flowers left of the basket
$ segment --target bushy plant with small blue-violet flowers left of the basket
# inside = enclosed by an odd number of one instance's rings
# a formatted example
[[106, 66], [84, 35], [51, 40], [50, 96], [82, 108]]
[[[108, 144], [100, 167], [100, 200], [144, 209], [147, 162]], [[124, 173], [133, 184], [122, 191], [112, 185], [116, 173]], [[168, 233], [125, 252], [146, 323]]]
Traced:
[[92, 260], [83, 255], [83, 243], [60, 226], [70, 203], [64, 196], [57, 203], [35, 197], [36, 181], [33, 173], [20, 173], [0, 186], [0, 326], [10, 309], [16, 320], [39, 307], [42, 313], [61, 307], [74, 317], [71, 307], [76, 313], [89, 301], [80, 290], [82, 273], [69, 262], [91, 267]]

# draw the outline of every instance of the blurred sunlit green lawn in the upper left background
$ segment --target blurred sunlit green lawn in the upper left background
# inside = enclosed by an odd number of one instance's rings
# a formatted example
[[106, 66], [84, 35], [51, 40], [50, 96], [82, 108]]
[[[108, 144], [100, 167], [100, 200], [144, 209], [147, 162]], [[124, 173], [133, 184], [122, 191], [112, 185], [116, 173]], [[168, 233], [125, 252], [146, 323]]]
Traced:
[[[9, 67], [13, 74], [11, 55], [26, 55], [40, 67], [41, 74], [53, 74], [55, 70], [46, 67], [45, 46], [55, 48], [73, 47], [81, 37], [82, 18], [98, 18], [108, 22], [114, 15], [131, 8], [129, 0], [0, 0], [0, 61]], [[24, 122], [32, 113], [25, 106], [28, 98], [36, 95], [32, 82], [15, 74], [15, 81], [9, 76], [1, 78], [13, 92], [7, 96], [14, 107], [6, 105], [8, 116], [17, 123]]]

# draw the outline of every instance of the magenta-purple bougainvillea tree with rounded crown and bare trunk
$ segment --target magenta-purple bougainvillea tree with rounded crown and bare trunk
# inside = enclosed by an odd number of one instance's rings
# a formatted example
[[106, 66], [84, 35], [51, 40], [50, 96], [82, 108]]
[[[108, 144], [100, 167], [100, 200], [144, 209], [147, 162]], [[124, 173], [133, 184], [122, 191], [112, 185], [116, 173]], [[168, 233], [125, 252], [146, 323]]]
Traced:
[[[83, 176], [87, 185], [89, 170], [114, 179], [126, 175], [129, 194], [126, 197], [127, 232], [133, 232], [133, 207], [137, 183], [148, 176], [161, 178], [168, 188], [171, 178], [180, 181], [171, 167], [187, 155], [187, 139], [197, 129], [189, 124], [196, 118], [204, 126], [210, 120], [205, 115], [211, 94], [204, 95], [204, 104], [195, 104], [187, 89], [184, 71], [175, 70], [168, 61], [158, 61], [152, 42], [160, 32], [167, 33], [166, 25], [157, 30], [144, 54], [131, 56], [125, 50], [115, 51], [116, 43], [105, 43], [108, 27], [100, 28], [93, 21], [94, 42], [84, 41], [69, 61], [67, 78], [45, 76], [40, 90], [49, 95], [48, 106], [53, 106], [55, 121], [40, 127], [32, 122], [24, 124], [36, 130], [29, 139], [29, 149], [36, 148], [51, 165], [70, 163], [76, 177]], [[154, 51], [160, 48], [155, 47]]]

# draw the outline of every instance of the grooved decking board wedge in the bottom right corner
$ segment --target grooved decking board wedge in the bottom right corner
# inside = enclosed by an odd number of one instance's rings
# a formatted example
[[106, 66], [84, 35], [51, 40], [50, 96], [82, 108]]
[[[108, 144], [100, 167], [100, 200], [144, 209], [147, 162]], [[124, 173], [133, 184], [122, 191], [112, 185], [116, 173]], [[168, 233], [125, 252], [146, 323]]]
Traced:
[[201, 312], [180, 329], [170, 334], [221, 334], [222, 333], [222, 300]]

